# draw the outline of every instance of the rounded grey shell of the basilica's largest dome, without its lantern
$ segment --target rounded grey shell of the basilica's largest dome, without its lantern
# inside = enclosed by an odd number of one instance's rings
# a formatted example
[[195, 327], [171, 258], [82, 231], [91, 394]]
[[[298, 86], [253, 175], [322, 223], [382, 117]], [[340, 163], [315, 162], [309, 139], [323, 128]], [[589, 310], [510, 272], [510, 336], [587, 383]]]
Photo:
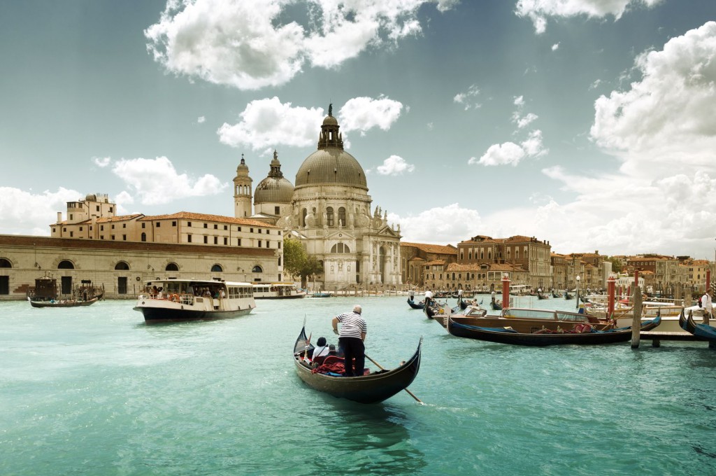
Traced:
[[296, 172], [296, 187], [307, 185], [350, 185], [368, 188], [365, 172], [346, 151], [329, 147], [306, 157]]

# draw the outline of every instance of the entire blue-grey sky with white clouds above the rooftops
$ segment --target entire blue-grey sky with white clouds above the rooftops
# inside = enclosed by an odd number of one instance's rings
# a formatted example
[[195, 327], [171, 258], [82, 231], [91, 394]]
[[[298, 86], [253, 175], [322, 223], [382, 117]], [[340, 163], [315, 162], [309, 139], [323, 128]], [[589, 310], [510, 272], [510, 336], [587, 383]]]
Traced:
[[333, 105], [402, 241], [716, 258], [716, 1], [0, 2], [0, 233], [233, 216]]

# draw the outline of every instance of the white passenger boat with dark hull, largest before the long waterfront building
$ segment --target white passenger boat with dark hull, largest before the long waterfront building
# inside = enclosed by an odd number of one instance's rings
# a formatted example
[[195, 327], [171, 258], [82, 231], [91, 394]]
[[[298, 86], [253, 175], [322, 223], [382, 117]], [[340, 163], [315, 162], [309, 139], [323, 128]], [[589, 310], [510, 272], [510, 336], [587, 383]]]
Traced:
[[150, 324], [236, 318], [254, 308], [250, 282], [165, 279], [145, 282], [134, 310]]

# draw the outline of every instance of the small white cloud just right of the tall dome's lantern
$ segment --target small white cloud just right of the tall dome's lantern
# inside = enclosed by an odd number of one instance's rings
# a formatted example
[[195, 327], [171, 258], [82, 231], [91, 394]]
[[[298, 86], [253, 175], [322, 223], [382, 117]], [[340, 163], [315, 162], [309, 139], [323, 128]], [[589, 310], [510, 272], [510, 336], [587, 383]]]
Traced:
[[400, 118], [402, 107], [402, 103], [388, 97], [354, 97], [343, 105], [338, 120], [344, 132], [359, 130], [364, 134], [374, 127], [388, 130]]

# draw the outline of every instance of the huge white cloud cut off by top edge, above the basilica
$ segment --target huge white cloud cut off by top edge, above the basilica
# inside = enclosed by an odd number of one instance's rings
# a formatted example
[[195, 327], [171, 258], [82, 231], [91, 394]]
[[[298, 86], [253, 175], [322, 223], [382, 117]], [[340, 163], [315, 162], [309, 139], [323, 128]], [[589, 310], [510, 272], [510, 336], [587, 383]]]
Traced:
[[421, 6], [445, 11], [456, 3], [169, 0], [145, 37], [155, 61], [170, 72], [256, 90], [289, 82], [306, 64], [337, 67], [369, 47], [420, 34]]

